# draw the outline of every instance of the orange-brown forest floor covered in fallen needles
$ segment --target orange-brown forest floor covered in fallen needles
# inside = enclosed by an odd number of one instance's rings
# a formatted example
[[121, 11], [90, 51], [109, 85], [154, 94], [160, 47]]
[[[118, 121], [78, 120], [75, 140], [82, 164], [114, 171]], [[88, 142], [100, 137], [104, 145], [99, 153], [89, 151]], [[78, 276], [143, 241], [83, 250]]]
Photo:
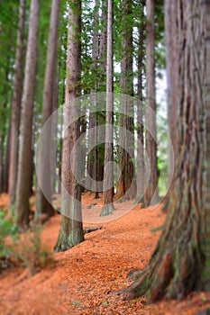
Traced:
[[[0, 197], [0, 207], [6, 196]], [[83, 195], [87, 204], [94, 195]], [[156, 209], [140, 209], [132, 202], [115, 203], [117, 220], [100, 223], [103, 229], [85, 235], [85, 241], [65, 252], [54, 253], [54, 266], [36, 275], [16, 266], [0, 275], [0, 314], [157, 314], [186, 315], [210, 306], [210, 294], [193, 293], [182, 301], [149, 304], [145, 297], [124, 301], [115, 292], [132, 281], [133, 268], [149, 260], [165, 214]], [[127, 211], [127, 209], [131, 209]], [[91, 211], [95, 211], [93, 207]], [[125, 215], [122, 216], [124, 213]], [[116, 214], [114, 214], [115, 216]], [[50, 218], [41, 232], [42, 243], [52, 252], [59, 232], [59, 214]], [[85, 226], [88, 224], [86, 223]], [[96, 226], [89, 224], [88, 226]]]

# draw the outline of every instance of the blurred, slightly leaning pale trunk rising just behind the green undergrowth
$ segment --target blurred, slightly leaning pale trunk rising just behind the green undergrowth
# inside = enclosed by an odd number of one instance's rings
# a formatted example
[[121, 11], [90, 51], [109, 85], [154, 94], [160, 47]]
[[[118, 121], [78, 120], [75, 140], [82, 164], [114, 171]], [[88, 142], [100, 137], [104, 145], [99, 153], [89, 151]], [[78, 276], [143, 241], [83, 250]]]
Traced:
[[29, 17], [23, 100], [21, 113], [21, 135], [18, 156], [18, 175], [16, 190], [17, 224], [25, 227], [29, 223], [29, 196], [32, 161], [32, 112], [36, 74], [37, 38], [40, 0], [32, 0]]

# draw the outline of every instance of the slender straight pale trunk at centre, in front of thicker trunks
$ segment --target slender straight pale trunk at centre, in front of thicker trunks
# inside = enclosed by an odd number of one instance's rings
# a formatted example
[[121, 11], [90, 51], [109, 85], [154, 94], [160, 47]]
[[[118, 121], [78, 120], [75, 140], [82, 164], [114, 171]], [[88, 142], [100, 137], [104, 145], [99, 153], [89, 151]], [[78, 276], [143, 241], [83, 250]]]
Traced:
[[107, 57], [106, 57], [106, 116], [105, 116], [105, 184], [103, 193], [104, 205], [101, 216], [111, 214], [114, 210], [113, 186], [113, 124], [114, 124], [114, 97], [113, 97], [113, 2], [108, 0], [107, 13]]

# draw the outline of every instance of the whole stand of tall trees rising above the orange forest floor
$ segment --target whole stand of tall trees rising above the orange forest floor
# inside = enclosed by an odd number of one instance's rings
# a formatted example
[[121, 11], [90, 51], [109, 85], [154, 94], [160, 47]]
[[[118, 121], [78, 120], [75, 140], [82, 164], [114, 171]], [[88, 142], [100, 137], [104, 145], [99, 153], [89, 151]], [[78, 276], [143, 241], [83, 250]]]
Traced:
[[59, 195], [58, 252], [84, 241], [84, 192], [107, 220], [114, 202], [163, 201], [150, 262], [123, 292], [209, 290], [210, 1], [8, 0], [0, 12], [0, 193], [18, 229], [54, 215]]

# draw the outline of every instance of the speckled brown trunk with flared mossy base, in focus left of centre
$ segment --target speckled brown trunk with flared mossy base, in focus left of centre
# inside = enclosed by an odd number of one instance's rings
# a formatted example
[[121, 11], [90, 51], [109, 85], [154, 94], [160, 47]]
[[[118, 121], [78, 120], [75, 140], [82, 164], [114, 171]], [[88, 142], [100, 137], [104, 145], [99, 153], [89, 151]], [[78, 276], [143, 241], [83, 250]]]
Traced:
[[84, 240], [81, 187], [74, 176], [78, 172], [77, 151], [70, 158], [72, 148], [79, 137], [80, 123], [78, 108], [74, 102], [80, 93], [79, 79], [81, 71], [81, 1], [73, 0], [69, 5], [68, 55], [66, 106], [64, 112], [64, 139], [62, 156], [61, 220], [59, 237], [55, 251], [66, 250]]

